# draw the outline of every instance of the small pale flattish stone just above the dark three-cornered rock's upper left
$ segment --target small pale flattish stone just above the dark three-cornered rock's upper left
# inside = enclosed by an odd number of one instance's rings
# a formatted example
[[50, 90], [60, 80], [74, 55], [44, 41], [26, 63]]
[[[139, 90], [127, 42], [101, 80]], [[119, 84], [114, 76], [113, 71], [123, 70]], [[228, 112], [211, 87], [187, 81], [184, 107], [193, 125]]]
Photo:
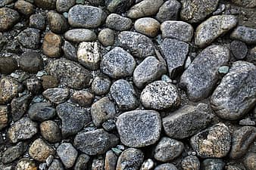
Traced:
[[54, 104], [61, 104], [69, 97], [69, 90], [67, 88], [48, 88], [42, 92], [42, 95]]

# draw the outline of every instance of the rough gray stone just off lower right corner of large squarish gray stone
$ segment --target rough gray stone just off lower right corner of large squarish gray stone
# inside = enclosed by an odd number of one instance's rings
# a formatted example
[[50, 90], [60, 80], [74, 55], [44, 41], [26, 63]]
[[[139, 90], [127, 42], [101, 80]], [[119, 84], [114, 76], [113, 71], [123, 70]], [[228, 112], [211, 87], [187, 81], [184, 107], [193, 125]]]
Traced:
[[161, 162], [176, 159], [184, 150], [184, 144], [175, 139], [163, 137], [154, 150], [154, 158]]

